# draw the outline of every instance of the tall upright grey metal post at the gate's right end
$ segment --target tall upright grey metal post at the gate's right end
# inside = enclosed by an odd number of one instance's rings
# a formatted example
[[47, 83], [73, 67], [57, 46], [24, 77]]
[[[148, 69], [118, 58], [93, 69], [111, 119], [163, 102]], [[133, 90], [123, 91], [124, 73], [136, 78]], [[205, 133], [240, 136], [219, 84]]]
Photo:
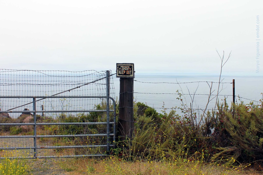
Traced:
[[109, 70], [107, 70], [106, 72], [106, 91], [107, 91], [107, 151], [110, 151], [110, 106], [109, 106], [110, 77], [109, 77]]

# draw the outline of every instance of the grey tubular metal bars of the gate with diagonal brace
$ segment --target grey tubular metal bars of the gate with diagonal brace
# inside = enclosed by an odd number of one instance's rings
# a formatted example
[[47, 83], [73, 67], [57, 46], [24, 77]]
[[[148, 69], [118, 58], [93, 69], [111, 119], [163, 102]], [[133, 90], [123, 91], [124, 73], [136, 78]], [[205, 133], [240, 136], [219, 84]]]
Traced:
[[[31, 114], [33, 113], [33, 121], [31, 122], [27, 122], [26, 119], [23, 120], [23, 122], [8, 122], [8, 119], [6, 119], [7, 122], [3, 122], [3, 117], [1, 119], [2, 122], [0, 122], [0, 127], [6, 127], [6, 129], [9, 130], [10, 128], [13, 129], [18, 129], [23, 127], [32, 127], [33, 131], [32, 132], [27, 132], [24, 134], [21, 133], [16, 133], [14, 135], [11, 134], [1, 134], [0, 139], [7, 139], [7, 140], [12, 140], [12, 139], [16, 139], [19, 142], [19, 139], [22, 139], [21, 142], [26, 142], [25, 139], [32, 139], [33, 144], [32, 145], [28, 145], [28, 144], [23, 144], [23, 145], [11, 145], [9, 144], [9, 146], [0, 146], [0, 150], [29, 150], [27, 152], [27, 156], [21, 156], [21, 155], [17, 155], [14, 157], [8, 157], [8, 158], [29, 158], [29, 159], [36, 159], [36, 158], [69, 158], [69, 157], [88, 157], [88, 156], [105, 156], [107, 155], [107, 153], [109, 153], [110, 151], [110, 147], [114, 146], [114, 142], [115, 142], [115, 124], [116, 124], [116, 103], [113, 97], [110, 97], [110, 71], [106, 71], [106, 76], [97, 80], [94, 80], [92, 82], [88, 82], [85, 83], [81, 86], [77, 86], [75, 88], [69, 89], [67, 90], [68, 92], [72, 91], [73, 89], [76, 88], [81, 88], [82, 86], [85, 86], [87, 84], [92, 84], [95, 83], [99, 80], [103, 80], [105, 79], [105, 86], [106, 86], [106, 96], [103, 95], [82, 95], [82, 96], [57, 96], [57, 94], [54, 94], [52, 96], [0, 96], [0, 99], [31, 99], [32, 102], [29, 102], [25, 105], [33, 105], [33, 110], [13, 110], [16, 109], [18, 107], [22, 107], [24, 105], [20, 105], [17, 107], [12, 108], [11, 110], [1, 110], [0, 109], [0, 115], [2, 114], [13, 114], [13, 113], [22, 113], [22, 114]], [[0, 86], [3, 85], [4, 82], [1, 82]], [[62, 92], [63, 93], [63, 92]], [[61, 94], [61, 93], [60, 93]], [[63, 109], [62, 110], [43, 110], [43, 105], [42, 105], [42, 110], [37, 110], [37, 102], [41, 102], [41, 100], [46, 99], [105, 99], [106, 101], [106, 109]], [[112, 106], [110, 107], [110, 100], [112, 101]], [[105, 102], [102, 100], [102, 102]], [[99, 106], [99, 104], [97, 104], [97, 107]], [[84, 114], [84, 113], [87, 114]], [[91, 113], [94, 115], [97, 115], [97, 113], [106, 113], [105, 115], [107, 116], [107, 120], [105, 122], [102, 121], [96, 121], [96, 122], [90, 122], [90, 121], [81, 121], [81, 122], [70, 122], [70, 120], [79, 120], [81, 119], [81, 117], [84, 116], [85, 117], [91, 117]], [[37, 114], [42, 114], [42, 116], [37, 115]], [[73, 113], [76, 115], [68, 115], [68, 122], [66, 120], [60, 121], [60, 120], [55, 120], [54, 117], [45, 117], [45, 120], [40, 120], [41, 118], [43, 118], [44, 113], [49, 114], [49, 113], [58, 113], [60, 114], [60, 119], [64, 117], [65, 113]], [[62, 115], [63, 114], [63, 115]], [[81, 116], [79, 117], [78, 115], [81, 114]], [[110, 114], [112, 114], [112, 118], [113, 121], [110, 121]], [[61, 117], [62, 116], [62, 117]], [[74, 118], [75, 117], [75, 118]], [[40, 119], [39, 119], [40, 118]], [[65, 118], [65, 117], [64, 117]], [[11, 119], [10, 119], [11, 120]], [[52, 121], [53, 120], [53, 121]], [[104, 120], [104, 119], [102, 119]], [[103, 126], [105, 125], [107, 128], [107, 131], [105, 133], [103, 133], [103, 131], [99, 131], [99, 129], [97, 129], [96, 131], [94, 129], [90, 129], [89, 127], [94, 126], [94, 125], [98, 125], [98, 126]], [[61, 132], [58, 132], [59, 129], [56, 128], [57, 133], [55, 134], [48, 134], [48, 132], [42, 133], [40, 131], [40, 129], [38, 129], [38, 127], [46, 127], [48, 128], [48, 130], [50, 128], [52, 128], [52, 126], [56, 126], [57, 128], [61, 127], [61, 126], [67, 126], [67, 127], [78, 127], [78, 128], [85, 128], [86, 130], [90, 130], [92, 132], [88, 133], [88, 131], [85, 131], [85, 133], [77, 133], [77, 134], [60, 134]], [[113, 130], [110, 131], [110, 128], [112, 128]], [[102, 129], [103, 130], [103, 129]], [[62, 133], [64, 132], [63, 129], [61, 130]], [[78, 130], [79, 131], [79, 130]], [[68, 130], [67, 130], [68, 132]], [[71, 132], [71, 131], [70, 131]], [[74, 131], [75, 132], [75, 131]], [[4, 132], [2, 132], [4, 133]], [[28, 135], [29, 133], [29, 135]], [[33, 133], [30, 135], [30, 133]], [[94, 141], [92, 140], [92, 142], [87, 142], [88, 138], [96, 138], [96, 140], [98, 140], [99, 138], [101, 138], [102, 140], [104, 139], [105, 141], [101, 141], [100, 143], [95, 143], [95, 139]], [[70, 141], [69, 143], [64, 143], [62, 141], [62, 143], [64, 144], [54, 144], [54, 142], [52, 143], [52, 145], [46, 145], [47, 143], [50, 142], [44, 142], [42, 143], [41, 141], [44, 140], [45, 138], [60, 138], [60, 139], [67, 139], [67, 141]], [[76, 138], [79, 138], [79, 144], [76, 144], [74, 141], [77, 140]], [[40, 139], [40, 140], [38, 140]], [[42, 140], [41, 140], [42, 139]], [[75, 139], [75, 140], [74, 140]], [[91, 139], [89, 139], [91, 140]], [[86, 141], [86, 142], [85, 142]], [[81, 142], [81, 144], [80, 144]], [[103, 143], [103, 144], [102, 144]], [[44, 145], [43, 145], [44, 144]], [[97, 149], [97, 151], [91, 151], [92, 149]], [[105, 151], [100, 150], [100, 149], [105, 149]], [[61, 153], [56, 152], [56, 155], [50, 155], [50, 151], [49, 152], [43, 152], [41, 150], [63, 150], [64, 149], [71, 149], [71, 155], [61, 155]], [[72, 150], [80, 150], [80, 149], [84, 149], [84, 151], [80, 152], [80, 154], [74, 154], [72, 155]], [[85, 151], [85, 149], [87, 149], [88, 151]], [[98, 151], [99, 149], [99, 151]], [[54, 152], [53, 151], [53, 152]], [[51, 151], [52, 152], [52, 151]], [[70, 151], [69, 151], [70, 152]], [[67, 151], [63, 152], [63, 153], [69, 153]], [[88, 154], [87, 154], [88, 153]], [[32, 155], [31, 155], [32, 154]], [[0, 157], [1, 159], [5, 159], [7, 156], [4, 157]]]

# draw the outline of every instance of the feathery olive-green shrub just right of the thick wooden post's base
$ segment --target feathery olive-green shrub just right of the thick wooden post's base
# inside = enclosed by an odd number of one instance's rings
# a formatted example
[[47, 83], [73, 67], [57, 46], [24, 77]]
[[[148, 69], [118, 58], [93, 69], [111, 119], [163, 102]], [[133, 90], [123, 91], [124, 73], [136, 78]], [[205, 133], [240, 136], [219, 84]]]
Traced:
[[[148, 108], [150, 109], [150, 108]], [[147, 110], [147, 109], [146, 109]], [[133, 150], [133, 156], [154, 157], [156, 159], [175, 154], [182, 157], [186, 152], [196, 154], [202, 145], [196, 145], [196, 140], [204, 142], [197, 133], [199, 129], [186, 125], [187, 120], [179, 117], [174, 110], [164, 115], [159, 123], [154, 124], [154, 115], [136, 117], [134, 138], [128, 144]]]

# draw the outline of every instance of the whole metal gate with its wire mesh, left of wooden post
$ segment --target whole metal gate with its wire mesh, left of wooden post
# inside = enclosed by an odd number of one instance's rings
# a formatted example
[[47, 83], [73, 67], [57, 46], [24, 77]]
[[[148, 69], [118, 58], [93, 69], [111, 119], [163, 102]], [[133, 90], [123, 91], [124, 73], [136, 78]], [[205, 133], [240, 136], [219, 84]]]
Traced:
[[0, 149], [26, 150], [27, 158], [109, 151], [115, 140], [110, 71], [1, 69], [0, 78]]

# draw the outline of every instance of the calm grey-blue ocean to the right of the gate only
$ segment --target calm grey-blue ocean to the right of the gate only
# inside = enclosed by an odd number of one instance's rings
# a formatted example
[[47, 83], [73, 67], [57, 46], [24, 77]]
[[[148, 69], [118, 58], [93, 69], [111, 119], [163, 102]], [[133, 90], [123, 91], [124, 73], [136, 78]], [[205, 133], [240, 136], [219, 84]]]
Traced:
[[[219, 87], [219, 102], [226, 98], [229, 106], [233, 101], [233, 79], [235, 79], [235, 101], [248, 104], [254, 100], [259, 104], [262, 99], [262, 76], [221, 76]], [[119, 96], [119, 78], [114, 77], [115, 96]], [[142, 83], [145, 82], [145, 83]], [[194, 83], [190, 83], [194, 82]], [[211, 84], [211, 82], [214, 82]], [[205, 109], [208, 103], [208, 94], [211, 100], [207, 109], [214, 109], [215, 97], [218, 91], [219, 76], [175, 76], [175, 75], [135, 75], [134, 101], [143, 102], [161, 112], [162, 106], [169, 111], [171, 108], [181, 107], [182, 104], [193, 109]], [[177, 84], [180, 83], [180, 84]], [[176, 99], [182, 95], [182, 101]], [[191, 94], [191, 95], [189, 95]], [[194, 95], [195, 94], [195, 95]], [[239, 96], [239, 97], [237, 97]], [[180, 111], [180, 110], [179, 110]]]

